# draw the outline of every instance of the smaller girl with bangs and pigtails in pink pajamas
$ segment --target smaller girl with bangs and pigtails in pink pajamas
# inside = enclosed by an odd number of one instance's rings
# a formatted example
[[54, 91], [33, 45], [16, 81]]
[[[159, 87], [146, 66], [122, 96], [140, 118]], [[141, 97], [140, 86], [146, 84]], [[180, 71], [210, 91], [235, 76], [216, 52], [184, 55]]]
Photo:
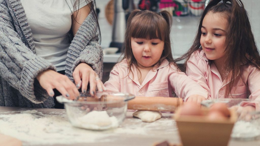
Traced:
[[205, 89], [174, 63], [170, 31], [172, 17], [167, 11], [134, 10], [129, 15], [123, 45], [124, 57], [104, 84], [107, 91], [135, 96], [207, 98]]

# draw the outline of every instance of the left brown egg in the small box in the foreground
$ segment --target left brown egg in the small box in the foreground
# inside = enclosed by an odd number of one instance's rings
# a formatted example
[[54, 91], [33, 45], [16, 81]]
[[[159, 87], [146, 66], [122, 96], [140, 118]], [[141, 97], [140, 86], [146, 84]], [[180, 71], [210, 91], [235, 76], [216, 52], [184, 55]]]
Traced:
[[189, 115], [189, 116], [201, 116], [202, 110], [200, 109], [200, 105], [193, 102], [185, 102], [181, 109], [180, 115]]

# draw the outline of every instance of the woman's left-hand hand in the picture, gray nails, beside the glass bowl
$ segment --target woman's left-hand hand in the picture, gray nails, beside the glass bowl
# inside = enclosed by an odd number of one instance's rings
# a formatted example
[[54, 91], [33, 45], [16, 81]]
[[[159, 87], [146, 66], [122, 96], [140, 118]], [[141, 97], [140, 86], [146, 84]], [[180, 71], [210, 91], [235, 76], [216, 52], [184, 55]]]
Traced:
[[53, 89], [57, 89], [64, 97], [75, 99], [79, 91], [70, 79], [54, 70], [47, 69], [37, 75], [37, 80], [49, 96], [54, 96]]

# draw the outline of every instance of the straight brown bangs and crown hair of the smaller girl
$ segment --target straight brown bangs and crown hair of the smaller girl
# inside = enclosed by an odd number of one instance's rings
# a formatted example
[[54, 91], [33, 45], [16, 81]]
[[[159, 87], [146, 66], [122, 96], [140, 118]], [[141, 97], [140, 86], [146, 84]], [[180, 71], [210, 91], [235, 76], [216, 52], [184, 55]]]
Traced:
[[[142, 21], [139, 21], [139, 20]], [[139, 15], [139, 18], [133, 19], [130, 26], [130, 35], [133, 38], [144, 38], [144, 39], [160, 39], [162, 41], [165, 40], [164, 34], [167, 30], [163, 28], [167, 28], [163, 26], [163, 22], [161, 20], [158, 21], [160, 17], [155, 17], [153, 15]]]

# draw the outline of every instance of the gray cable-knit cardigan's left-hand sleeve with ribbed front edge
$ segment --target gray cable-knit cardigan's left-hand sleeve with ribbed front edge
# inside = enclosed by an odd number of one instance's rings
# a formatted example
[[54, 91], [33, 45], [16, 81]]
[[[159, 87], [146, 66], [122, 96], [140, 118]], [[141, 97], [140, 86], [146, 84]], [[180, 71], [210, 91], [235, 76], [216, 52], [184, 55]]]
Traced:
[[[49, 96], [36, 76], [49, 68], [55, 70], [55, 67], [25, 45], [24, 38], [30, 37], [31, 31], [21, 3], [11, 3], [15, 8], [8, 8], [7, 3], [0, 0], [0, 76], [31, 102], [41, 103]], [[18, 24], [17, 19], [24, 19], [23, 24]], [[22, 33], [21, 29], [26, 31]]]

